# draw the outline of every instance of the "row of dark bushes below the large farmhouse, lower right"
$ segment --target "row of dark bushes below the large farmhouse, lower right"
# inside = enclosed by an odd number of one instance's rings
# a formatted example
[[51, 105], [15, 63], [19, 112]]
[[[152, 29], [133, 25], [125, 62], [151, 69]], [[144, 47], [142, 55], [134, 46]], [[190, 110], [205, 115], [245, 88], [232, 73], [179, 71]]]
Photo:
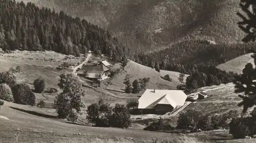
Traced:
[[[187, 129], [191, 132], [197, 130], [217, 130], [217, 129], [227, 129], [229, 128], [228, 121], [233, 118], [239, 116], [238, 110], [229, 110], [226, 113], [219, 115], [212, 114], [203, 114], [198, 110], [187, 110], [185, 112], [180, 113], [177, 121], [176, 127], [168, 128], [170, 130], [173, 129]], [[156, 131], [156, 130], [164, 130], [164, 124], [161, 118], [157, 122], [153, 122], [148, 125], [144, 130]]]

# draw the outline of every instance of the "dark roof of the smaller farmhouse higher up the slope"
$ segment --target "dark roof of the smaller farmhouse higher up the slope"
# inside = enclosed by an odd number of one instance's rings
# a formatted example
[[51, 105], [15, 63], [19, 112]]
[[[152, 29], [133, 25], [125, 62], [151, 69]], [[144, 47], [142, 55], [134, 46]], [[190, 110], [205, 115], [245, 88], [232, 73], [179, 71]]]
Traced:
[[[106, 66], [103, 64], [94, 64], [94, 63], [87, 63], [78, 71], [77, 74], [84, 74], [87, 73], [87, 75], [95, 75], [95, 74], [102, 74], [104, 71], [109, 70]], [[89, 76], [91, 77], [91, 76]], [[91, 77], [94, 78], [94, 77]]]

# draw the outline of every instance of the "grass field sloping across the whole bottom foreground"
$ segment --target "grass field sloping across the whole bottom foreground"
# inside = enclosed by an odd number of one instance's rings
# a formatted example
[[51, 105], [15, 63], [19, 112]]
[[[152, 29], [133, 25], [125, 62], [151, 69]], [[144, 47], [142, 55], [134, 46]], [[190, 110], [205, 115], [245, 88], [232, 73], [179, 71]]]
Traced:
[[[0, 142], [253, 142], [223, 137], [222, 131], [179, 135], [134, 129], [95, 128], [56, 118], [53, 109], [5, 102], [0, 109]], [[154, 142], [155, 143], [155, 142]], [[167, 142], [166, 142], [167, 143]]]

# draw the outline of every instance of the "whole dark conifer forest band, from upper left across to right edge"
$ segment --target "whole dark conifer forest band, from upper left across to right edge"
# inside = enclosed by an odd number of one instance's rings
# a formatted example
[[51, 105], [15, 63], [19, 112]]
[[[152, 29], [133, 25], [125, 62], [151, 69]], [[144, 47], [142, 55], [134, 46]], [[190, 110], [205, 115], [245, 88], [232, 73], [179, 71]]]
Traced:
[[[33, 3], [25, 5], [23, 2], [0, 0], [0, 4], [0, 47], [6, 52], [52, 50], [79, 56], [91, 50], [98, 55], [106, 54], [114, 61], [130, 58], [153, 68], [189, 74], [188, 81], [194, 80], [197, 86], [187, 81], [188, 88], [190, 85], [198, 88], [231, 82], [236, 74], [226, 73], [215, 66], [246, 54], [247, 49], [254, 46], [253, 43], [210, 44], [206, 40], [183, 40], [162, 51], [134, 55], [130, 51], [138, 47], [130, 50], [110, 32], [87, 20], [73, 18], [63, 11], [57, 13], [54, 9], [38, 8]], [[206, 74], [205, 84], [199, 83], [195, 73]], [[212, 77], [215, 82], [208, 81]]]

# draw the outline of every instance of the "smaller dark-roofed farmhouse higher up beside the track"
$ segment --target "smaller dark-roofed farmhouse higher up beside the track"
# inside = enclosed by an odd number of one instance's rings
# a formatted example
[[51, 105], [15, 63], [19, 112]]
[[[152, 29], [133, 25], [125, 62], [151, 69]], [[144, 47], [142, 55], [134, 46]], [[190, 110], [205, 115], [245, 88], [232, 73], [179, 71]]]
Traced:
[[77, 73], [77, 75], [90, 80], [104, 80], [108, 78], [109, 68], [103, 64], [87, 63]]

